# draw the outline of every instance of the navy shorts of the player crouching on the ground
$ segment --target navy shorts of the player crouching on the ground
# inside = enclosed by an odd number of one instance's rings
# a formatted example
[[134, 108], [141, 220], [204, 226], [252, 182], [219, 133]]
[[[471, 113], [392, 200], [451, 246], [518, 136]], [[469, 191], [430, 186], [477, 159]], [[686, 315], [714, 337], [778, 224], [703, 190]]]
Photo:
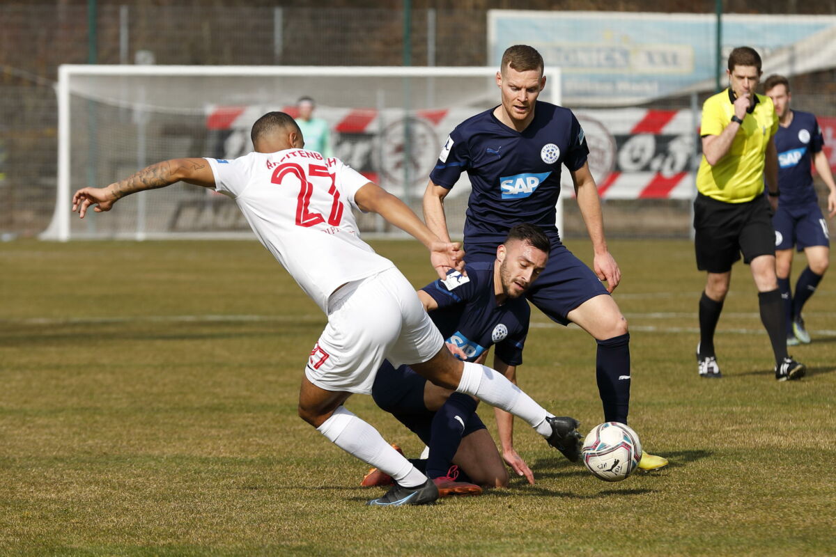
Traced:
[[[424, 386], [426, 379], [418, 375], [409, 366], [392, 367], [388, 360], [383, 362], [375, 376], [371, 396], [375, 403], [386, 412], [398, 418], [424, 444], [429, 445], [432, 438], [432, 418], [436, 413], [427, 410], [424, 405]], [[477, 413], [472, 413], [466, 420], [461, 437], [486, 429]]]

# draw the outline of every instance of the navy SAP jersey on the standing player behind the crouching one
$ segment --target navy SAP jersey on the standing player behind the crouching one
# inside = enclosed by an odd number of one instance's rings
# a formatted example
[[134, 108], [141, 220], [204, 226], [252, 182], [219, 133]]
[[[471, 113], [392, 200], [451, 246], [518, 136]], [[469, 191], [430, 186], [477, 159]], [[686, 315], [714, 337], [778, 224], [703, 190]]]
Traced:
[[465, 245], [495, 248], [520, 222], [538, 225], [559, 241], [555, 204], [560, 195], [560, 169], [578, 170], [589, 148], [572, 111], [538, 101], [531, 124], [517, 132], [490, 109], [456, 126], [441, 149], [430, 179], [445, 188], [456, 185], [462, 171], [470, 177]]

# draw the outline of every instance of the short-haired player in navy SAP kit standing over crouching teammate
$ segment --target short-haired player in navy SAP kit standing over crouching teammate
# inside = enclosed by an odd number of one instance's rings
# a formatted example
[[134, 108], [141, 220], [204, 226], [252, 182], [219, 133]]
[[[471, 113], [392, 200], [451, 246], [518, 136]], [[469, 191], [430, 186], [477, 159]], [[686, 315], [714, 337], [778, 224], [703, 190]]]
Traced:
[[[589, 149], [572, 111], [538, 101], [546, 84], [543, 58], [526, 45], [507, 48], [497, 72], [502, 104], [456, 126], [424, 194], [426, 224], [449, 239], [444, 198], [462, 171], [472, 193], [465, 221], [465, 261], [492, 260], [497, 244], [518, 222], [545, 230], [552, 251], [528, 299], [553, 321], [577, 323], [598, 342], [596, 377], [604, 419], [627, 423], [630, 406], [630, 333], [609, 292], [621, 271], [604, 240], [601, 203], [589, 172]], [[563, 246], [555, 226], [560, 170], [572, 175], [581, 215], [594, 249], [594, 272]], [[607, 282], [607, 288], [600, 281]], [[665, 458], [646, 455], [640, 467], [660, 468]]]

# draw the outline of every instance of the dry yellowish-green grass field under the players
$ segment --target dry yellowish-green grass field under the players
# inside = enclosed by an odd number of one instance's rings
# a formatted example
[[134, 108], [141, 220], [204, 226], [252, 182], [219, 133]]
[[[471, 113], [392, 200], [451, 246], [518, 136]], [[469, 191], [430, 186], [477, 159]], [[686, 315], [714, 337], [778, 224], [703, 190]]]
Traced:
[[[417, 243], [374, 245], [415, 286], [432, 279]], [[813, 344], [791, 349], [808, 377], [778, 383], [738, 265], [725, 377], [705, 380], [691, 245], [610, 248], [630, 425], [670, 467], [607, 484], [517, 421], [537, 484], [373, 509], [365, 465], [296, 417], [324, 316], [254, 241], [0, 244], [0, 554], [836, 554], [833, 277], [805, 312]], [[594, 341], [533, 320], [520, 384], [586, 431], [602, 421]], [[348, 407], [421, 450], [370, 397]]]

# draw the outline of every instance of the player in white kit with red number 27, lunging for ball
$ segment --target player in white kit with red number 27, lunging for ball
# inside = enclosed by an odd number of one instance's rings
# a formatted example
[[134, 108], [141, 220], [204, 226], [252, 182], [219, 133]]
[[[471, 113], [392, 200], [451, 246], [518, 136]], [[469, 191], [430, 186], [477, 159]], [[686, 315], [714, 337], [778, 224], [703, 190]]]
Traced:
[[400, 200], [340, 160], [304, 150], [288, 114], [264, 114], [251, 136], [255, 150], [236, 160], [166, 160], [105, 188], [78, 190], [73, 210], [84, 218], [90, 205], [110, 210], [125, 195], [180, 180], [232, 197], [258, 240], [328, 315], [305, 367], [298, 413], [339, 448], [395, 479], [395, 487], [369, 504], [426, 504], [438, 497], [436, 484], [343, 406], [352, 393], [371, 391], [384, 359], [409, 363], [441, 387], [498, 406], [553, 447], [577, 453], [576, 420], [554, 418], [500, 373], [451, 355], [409, 281], [359, 239], [351, 210], [374, 211], [415, 236], [440, 276], [461, 267], [459, 246], [440, 241]]

